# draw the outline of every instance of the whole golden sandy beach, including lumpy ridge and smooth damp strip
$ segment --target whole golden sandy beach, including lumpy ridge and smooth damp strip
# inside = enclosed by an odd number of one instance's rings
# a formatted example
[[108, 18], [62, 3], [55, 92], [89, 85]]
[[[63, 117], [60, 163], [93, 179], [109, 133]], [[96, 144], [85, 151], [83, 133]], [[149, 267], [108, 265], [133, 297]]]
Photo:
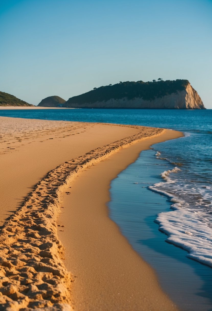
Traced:
[[182, 133], [7, 117], [0, 130], [0, 310], [177, 310], [106, 203], [141, 150]]

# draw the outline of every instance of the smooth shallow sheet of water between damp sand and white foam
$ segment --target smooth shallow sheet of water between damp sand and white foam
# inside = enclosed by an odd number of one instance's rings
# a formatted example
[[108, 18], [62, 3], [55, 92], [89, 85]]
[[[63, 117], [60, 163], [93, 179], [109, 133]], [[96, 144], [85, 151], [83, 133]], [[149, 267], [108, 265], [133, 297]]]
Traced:
[[157, 162], [153, 150], [142, 151], [138, 160], [112, 181], [110, 217], [156, 270], [162, 288], [183, 311], [212, 310], [212, 269], [187, 258], [181, 248], [165, 243], [167, 236], [154, 222], [158, 213], [170, 211], [164, 195], [148, 190], [159, 181], [160, 172], [168, 169], [165, 160]]

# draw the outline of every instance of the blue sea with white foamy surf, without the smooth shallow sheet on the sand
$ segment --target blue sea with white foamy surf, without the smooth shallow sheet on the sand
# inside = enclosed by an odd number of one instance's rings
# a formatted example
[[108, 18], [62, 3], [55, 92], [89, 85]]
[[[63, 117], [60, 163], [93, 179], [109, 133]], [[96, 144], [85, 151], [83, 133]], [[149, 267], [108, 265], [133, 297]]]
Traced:
[[[212, 110], [44, 109], [0, 110], [1, 116], [136, 124], [180, 130], [182, 139], [154, 146], [167, 168], [148, 188], [170, 198], [175, 212], [160, 214], [160, 230], [189, 257], [212, 267]], [[161, 161], [159, 161], [161, 160]], [[177, 221], [175, 218], [177, 217]]]

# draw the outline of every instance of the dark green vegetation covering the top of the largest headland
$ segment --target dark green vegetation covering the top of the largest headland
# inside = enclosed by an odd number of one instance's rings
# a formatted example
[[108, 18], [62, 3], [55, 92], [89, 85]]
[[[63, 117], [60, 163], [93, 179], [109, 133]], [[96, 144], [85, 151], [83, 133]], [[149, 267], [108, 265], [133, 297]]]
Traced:
[[113, 98], [121, 99], [127, 98], [131, 100], [133, 98], [143, 98], [143, 100], [154, 100], [155, 98], [161, 98], [165, 95], [177, 93], [177, 91], [185, 90], [189, 84], [188, 80], [175, 80], [163, 81], [153, 80], [153, 82], [120, 82], [114, 85], [100, 86], [94, 88], [87, 93], [69, 98], [64, 104], [64, 107], [71, 107], [71, 104], [85, 104], [107, 101]]

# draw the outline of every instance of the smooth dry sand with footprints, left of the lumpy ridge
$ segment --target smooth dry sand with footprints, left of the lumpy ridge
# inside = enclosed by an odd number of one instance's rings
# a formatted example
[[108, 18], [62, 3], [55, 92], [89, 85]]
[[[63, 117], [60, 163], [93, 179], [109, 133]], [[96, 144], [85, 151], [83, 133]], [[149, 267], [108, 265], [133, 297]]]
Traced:
[[94, 123], [0, 118], [0, 224], [61, 163], [138, 132]]

